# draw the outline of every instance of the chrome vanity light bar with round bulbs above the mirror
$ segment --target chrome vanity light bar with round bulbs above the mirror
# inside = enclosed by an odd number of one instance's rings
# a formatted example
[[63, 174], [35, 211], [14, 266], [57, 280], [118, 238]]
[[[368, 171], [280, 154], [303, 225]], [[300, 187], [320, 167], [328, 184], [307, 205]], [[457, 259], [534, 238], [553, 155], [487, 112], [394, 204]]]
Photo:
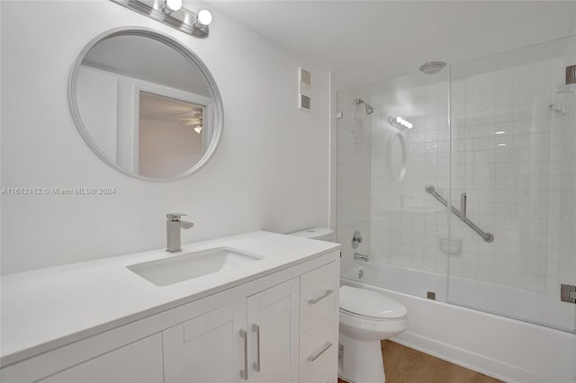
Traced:
[[212, 21], [210, 11], [202, 9], [194, 13], [182, 6], [182, 0], [110, 0], [132, 11], [144, 14], [178, 31], [200, 39], [208, 37], [208, 24]]

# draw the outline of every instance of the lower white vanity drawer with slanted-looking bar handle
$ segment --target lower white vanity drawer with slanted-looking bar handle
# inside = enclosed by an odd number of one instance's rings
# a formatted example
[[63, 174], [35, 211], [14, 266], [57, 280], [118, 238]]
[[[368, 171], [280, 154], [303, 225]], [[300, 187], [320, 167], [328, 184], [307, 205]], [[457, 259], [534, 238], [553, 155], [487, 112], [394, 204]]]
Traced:
[[300, 336], [300, 381], [320, 379], [323, 372], [331, 371], [338, 342], [334, 339], [334, 315]]

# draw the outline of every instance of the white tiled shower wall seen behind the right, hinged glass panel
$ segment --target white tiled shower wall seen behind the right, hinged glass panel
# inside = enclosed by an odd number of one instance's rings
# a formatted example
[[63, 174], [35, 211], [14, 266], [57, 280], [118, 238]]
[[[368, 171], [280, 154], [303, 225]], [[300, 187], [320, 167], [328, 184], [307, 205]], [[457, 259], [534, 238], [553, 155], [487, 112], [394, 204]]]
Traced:
[[549, 107], [565, 103], [563, 76], [563, 60], [551, 59], [453, 83], [453, 194], [467, 193], [469, 218], [495, 239], [454, 220], [463, 251], [452, 275], [557, 291], [567, 114]]

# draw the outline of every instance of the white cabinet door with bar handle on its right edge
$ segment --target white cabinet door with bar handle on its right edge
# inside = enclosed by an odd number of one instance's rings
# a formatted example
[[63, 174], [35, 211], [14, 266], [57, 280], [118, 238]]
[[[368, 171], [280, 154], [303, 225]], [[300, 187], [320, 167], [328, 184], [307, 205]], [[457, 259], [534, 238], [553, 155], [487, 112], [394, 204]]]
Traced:
[[245, 324], [242, 299], [163, 331], [165, 382], [240, 381]]

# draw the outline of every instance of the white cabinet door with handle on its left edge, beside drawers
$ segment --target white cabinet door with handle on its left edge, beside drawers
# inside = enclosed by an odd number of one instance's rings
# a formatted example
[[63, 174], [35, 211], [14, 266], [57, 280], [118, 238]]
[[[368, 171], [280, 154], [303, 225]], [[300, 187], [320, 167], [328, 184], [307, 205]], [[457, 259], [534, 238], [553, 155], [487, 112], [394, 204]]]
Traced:
[[247, 298], [250, 382], [298, 380], [299, 279]]

